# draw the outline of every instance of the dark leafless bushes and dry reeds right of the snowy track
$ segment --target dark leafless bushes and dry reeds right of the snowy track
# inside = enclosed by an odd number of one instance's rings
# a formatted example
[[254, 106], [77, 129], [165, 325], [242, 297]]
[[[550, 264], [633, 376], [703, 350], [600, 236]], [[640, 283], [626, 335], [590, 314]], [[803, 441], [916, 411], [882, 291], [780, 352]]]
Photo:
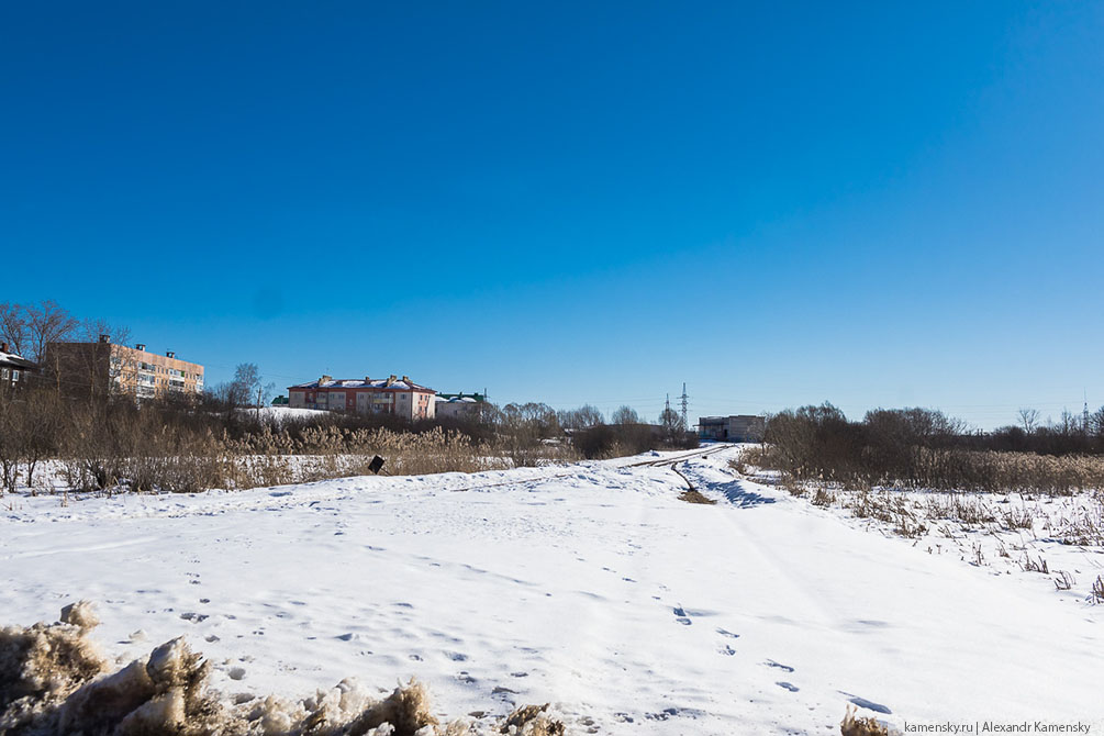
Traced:
[[[849, 488], [1044, 493], [1104, 488], [1098, 436], [1016, 429], [972, 434], [965, 423], [922, 408], [875, 409], [851, 422], [825, 403], [769, 417], [765, 444], [746, 461], [781, 470], [790, 480]], [[1011, 446], [1010, 437], [1026, 444]]]

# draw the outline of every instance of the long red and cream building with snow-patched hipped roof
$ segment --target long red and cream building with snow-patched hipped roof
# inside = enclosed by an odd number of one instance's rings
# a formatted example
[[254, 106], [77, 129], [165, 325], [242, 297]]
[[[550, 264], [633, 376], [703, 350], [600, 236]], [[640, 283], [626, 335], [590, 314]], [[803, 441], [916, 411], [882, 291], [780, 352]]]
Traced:
[[293, 408], [392, 414], [404, 419], [432, 419], [436, 416], [437, 392], [420, 386], [408, 376], [335, 381], [323, 375], [318, 381], [288, 386], [288, 406]]

